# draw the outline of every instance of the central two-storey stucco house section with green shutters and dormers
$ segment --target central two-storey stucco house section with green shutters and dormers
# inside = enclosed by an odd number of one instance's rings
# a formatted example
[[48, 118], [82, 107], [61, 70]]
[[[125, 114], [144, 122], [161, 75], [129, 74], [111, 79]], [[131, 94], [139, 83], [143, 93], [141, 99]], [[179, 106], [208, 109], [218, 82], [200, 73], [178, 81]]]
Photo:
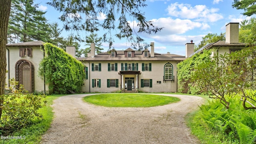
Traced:
[[154, 43], [151, 51], [128, 48], [77, 58], [86, 67], [82, 92], [177, 92], [177, 64], [185, 56], [152, 53]]

